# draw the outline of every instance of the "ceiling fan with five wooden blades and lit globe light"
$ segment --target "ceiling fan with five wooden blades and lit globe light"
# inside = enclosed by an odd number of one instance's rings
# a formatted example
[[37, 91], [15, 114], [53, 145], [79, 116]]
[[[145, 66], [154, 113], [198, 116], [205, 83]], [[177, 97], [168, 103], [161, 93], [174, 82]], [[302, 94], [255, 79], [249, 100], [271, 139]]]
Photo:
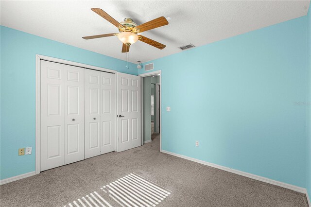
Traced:
[[137, 40], [147, 43], [151, 46], [154, 46], [160, 50], [166, 47], [165, 45], [155, 40], [149, 39], [143, 35], [138, 35], [138, 33], [152, 30], [157, 27], [162, 27], [164, 25], [168, 25], [169, 22], [166, 20], [165, 17], [158, 17], [154, 20], [148, 21], [146, 23], [143, 23], [137, 26], [137, 24], [133, 22], [133, 19], [131, 18], [124, 18], [124, 20], [119, 23], [117, 20], [115, 20], [110, 15], [105, 13], [102, 9], [92, 8], [91, 10], [95, 12], [96, 14], [98, 14], [99, 16], [106, 19], [107, 21], [109, 21], [111, 24], [118, 27], [120, 33], [84, 36], [82, 37], [84, 39], [94, 39], [94, 38], [101, 38], [101, 37], [106, 37], [106, 36], [118, 36], [119, 40], [123, 43], [122, 52], [129, 52], [130, 45], [137, 42]]

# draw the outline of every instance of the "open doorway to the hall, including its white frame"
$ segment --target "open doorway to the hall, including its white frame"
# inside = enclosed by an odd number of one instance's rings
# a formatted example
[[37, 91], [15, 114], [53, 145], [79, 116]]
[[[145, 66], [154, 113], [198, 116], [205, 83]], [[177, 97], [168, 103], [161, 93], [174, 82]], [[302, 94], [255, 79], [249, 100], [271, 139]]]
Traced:
[[142, 143], [152, 144], [161, 150], [161, 72], [141, 74]]

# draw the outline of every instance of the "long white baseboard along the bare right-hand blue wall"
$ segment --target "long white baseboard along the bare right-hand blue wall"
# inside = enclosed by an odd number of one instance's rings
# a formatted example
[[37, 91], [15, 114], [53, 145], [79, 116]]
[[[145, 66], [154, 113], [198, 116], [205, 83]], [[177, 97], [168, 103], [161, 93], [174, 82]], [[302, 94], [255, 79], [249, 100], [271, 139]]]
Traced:
[[217, 169], [220, 169], [220, 170], [224, 170], [224, 171], [227, 171], [227, 172], [230, 172], [230, 173], [239, 174], [239, 175], [242, 175], [242, 176], [245, 176], [245, 177], [248, 177], [248, 178], [252, 178], [252, 179], [255, 179], [255, 180], [259, 180], [259, 181], [265, 182], [265, 183], [270, 183], [270, 184], [273, 184], [273, 185], [276, 185], [276, 186], [280, 186], [280, 187], [283, 187], [283, 188], [286, 188], [286, 189], [290, 189], [290, 190], [294, 190], [294, 191], [297, 191], [297, 192], [305, 193], [306, 196], [307, 196], [308, 202], [309, 202], [309, 206], [311, 206], [310, 205], [309, 196], [308, 196], [308, 193], [307, 193], [307, 189], [304, 189], [304, 188], [301, 188], [301, 187], [298, 187], [298, 186], [294, 186], [294, 185], [291, 185], [291, 184], [287, 184], [287, 183], [282, 183], [282, 182], [279, 182], [279, 181], [276, 181], [276, 180], [272, 180], [272, 179], [269, 179], [269, 178], [266, 178], [266, 177], [261, 177], [261, 176], [256, 175], [256, 174], [245, 173], [245, 172], [242, 172], [242, 171], [234, 170], [232, 168], [227, 168], [227, 167], [224, 167], [224, 166], [221, 166], [221, 165], [216, 165], [216, 164], [213, 164], [213, 163], [210, 163], [210, 162], [206, 162], [206, 161], [202, 161], [202, 160], [199, 160], [199, 159], [195, 159], [195, 158], [192, 158], [192, 157], [189, 157], [189, 156], [179, 155], [179, 154], [171, 153], [171, 152], [168, 152], [168, 151], [165, 151], [165, 150], [162, 150], [161, 152], [169, 154], [169, 155], [173, 155], [173, 156], [178, 156], [178, 157], [181, 157], [181, 158], [184, 158], [184, 159], [188, 159], [190, 161], [197, 162], [197, 163], [200, 163], [200, 164], [203, 164], [203, 165], [207, 165], [207, 166], [210, 166], [210, 167], [213, 167], [213, 168], [217, 168]]

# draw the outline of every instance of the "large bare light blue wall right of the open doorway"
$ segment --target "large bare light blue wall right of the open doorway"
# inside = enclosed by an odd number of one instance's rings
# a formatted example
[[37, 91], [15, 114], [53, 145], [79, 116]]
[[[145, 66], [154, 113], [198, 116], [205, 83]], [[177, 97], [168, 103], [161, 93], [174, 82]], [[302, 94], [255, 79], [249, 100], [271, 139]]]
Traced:
[[294, 103], [306, 101], [307, 20], [151, 61], [162, 70], [162, 149], [306, 188], [310, 106]]

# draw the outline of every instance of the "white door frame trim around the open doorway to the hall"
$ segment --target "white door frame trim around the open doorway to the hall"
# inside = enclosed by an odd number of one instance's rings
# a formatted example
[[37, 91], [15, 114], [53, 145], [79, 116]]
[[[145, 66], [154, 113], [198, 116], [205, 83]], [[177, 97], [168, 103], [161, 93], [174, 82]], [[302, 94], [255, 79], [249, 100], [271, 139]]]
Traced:
[[147, 72], [147, 73], [142, 73], [139, 74], [138, 76], [141, 77], [141, 81], [140, 81], [140, 96], [141, 96], [141, 145], [143, 145], [143, 124], [144, 124], [144, 120], [143, 120], [143, 77], [148, 77], [148, 76], [152, 76], [152, 75], [156, 75], [156, 74], [160, 74], [159, 80], [160, 80], [160, 152], [162, 152], [162, 84], [161, 84], [161, 79], [162, 79], [162, 74], [161, 74], [161, 70], [155, 70], [152, 72]]

